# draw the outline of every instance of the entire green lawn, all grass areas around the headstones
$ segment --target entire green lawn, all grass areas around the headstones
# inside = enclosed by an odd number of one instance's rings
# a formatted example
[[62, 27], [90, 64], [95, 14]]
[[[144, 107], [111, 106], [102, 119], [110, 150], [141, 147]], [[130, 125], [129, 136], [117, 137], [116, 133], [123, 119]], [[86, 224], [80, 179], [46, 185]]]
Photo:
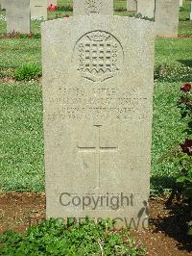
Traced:
[[[64, 1], [65, 6], [72, 4]], [[60, 6], [63, 0], [59, 0]], [[126, 8], [125, 1], [116, 1], [115, 8]], [[192, 35], [188, 20], [189, 1], [180, 9], [180, 35]], [[49, 18], [67, 12], [49, 13]], [[5, 12], [0, 12], [5, 14]], [[68, 13], [67, 13], [68, 14]], [[72, 13], [69, 13], [72, 14]], [[121, 12], [118, 14], [128, 14]], [[40, 22], [32, 22], [39, 33]], [[6, 32], [6, 22], [0, 20], [0, 34]], [[192, 38], [156, 38], [156, 65], [170, 64], [192, 67]], [[0, 190], [44, 191], [42, 94], [38, 82], [5, 82], [22, 64], [41, 65], [40, 38], [0, 39]], [[4, 81], [4, 82], [3, 82]], [[186, 81], [187, 82], [187, 81]], [[190, 82], [190, 81], [188, 81]], [[192, 82], [192, 81], [191, 81]], [[160, 156], [184, 139], [184, 124], [176, 107], [182, 82], [156, 82], [152, 147], [152, 192], [162, 192], [174, 186], [178, 171], [173, 163], [158, 163]]]

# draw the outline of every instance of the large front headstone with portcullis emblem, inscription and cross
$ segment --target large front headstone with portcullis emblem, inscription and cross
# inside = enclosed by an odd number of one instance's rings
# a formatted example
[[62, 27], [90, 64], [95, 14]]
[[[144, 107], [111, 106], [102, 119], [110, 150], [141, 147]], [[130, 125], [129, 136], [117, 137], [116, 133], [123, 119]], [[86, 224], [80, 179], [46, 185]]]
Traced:
[[47, 21], [42, 64], [47, 218], [147, 225], [154, 23], [106, 15]]

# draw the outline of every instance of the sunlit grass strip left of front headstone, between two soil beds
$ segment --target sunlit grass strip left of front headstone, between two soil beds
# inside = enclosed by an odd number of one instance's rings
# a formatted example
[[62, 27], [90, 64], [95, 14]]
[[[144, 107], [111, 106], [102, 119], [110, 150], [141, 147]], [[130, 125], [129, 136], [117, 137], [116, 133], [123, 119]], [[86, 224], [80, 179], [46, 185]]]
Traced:
[[42, 191], [40, 85], [0, 85], [0, 113], [0, 190]]

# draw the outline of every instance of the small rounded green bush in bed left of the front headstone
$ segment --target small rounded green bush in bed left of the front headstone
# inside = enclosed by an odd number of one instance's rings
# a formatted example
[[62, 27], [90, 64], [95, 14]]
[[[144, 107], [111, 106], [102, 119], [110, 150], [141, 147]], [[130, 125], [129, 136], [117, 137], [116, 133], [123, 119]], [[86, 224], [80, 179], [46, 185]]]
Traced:
[[30, 81], [41, 76], [41, 70], [37, 64], [23, 64], [14, 71], [14, 78], [18, 81]]

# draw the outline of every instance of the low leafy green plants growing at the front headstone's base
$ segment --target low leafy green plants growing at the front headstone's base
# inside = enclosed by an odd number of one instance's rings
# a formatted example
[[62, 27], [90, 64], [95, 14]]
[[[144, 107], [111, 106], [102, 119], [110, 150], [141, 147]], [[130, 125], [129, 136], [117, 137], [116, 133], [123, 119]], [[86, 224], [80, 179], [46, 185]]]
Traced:
[[25, 235], [5, 232], [0, 244], [2, 256], [145, 255], [145, 249], [132, 240], [129, 231], [115, 231], [110, 219], [96, 224], [85, 218], [79, 224], [63, 224], [50, 218], [30, 227]]

